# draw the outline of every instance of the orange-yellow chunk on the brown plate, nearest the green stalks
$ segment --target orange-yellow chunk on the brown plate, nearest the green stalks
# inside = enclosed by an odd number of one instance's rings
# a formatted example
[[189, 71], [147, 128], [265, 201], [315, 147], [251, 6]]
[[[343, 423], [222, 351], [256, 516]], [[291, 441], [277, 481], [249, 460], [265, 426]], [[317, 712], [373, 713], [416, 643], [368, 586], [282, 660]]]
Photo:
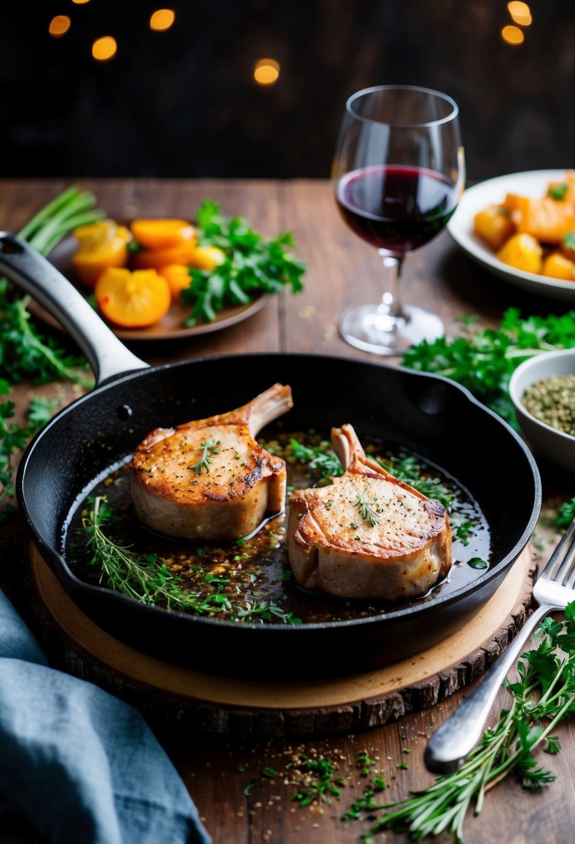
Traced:
[[73, 235], [78, 240], [78, 250], [72, 258], [74, 273], [86, 287], [94, 289], [105, 269], [127, 266], [127, 244], [132, 235], [126, 226], [104, 219], [78, 226]]

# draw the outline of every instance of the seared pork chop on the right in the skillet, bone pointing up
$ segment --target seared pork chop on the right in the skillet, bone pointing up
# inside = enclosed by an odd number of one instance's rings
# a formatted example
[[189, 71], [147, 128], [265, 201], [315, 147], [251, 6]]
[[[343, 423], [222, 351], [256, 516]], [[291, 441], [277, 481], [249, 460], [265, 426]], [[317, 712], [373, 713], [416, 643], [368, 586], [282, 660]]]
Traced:
[[366, 457], [351, 425], [331, 431], [345, 472], [289, 500], [287, 548], [301, 586], [341, 598], [425, 594], [451, 568], [443, 504]]

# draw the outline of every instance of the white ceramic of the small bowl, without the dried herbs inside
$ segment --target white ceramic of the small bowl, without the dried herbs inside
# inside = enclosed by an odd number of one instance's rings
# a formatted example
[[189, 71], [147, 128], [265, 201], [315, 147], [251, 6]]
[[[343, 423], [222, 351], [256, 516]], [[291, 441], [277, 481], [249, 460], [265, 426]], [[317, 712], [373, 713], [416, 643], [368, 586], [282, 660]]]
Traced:
[[519, 427], [535, 454], [547, 457], [552, 463], [575, 472], [575, 436], [556, 430], [529, 413], [521, 398], [531, 384], [553, 375], [575, 374], [575, 349], [542, 352], [525, 360], [513, 372], [509, 381], [509, 396], [517, 413]]

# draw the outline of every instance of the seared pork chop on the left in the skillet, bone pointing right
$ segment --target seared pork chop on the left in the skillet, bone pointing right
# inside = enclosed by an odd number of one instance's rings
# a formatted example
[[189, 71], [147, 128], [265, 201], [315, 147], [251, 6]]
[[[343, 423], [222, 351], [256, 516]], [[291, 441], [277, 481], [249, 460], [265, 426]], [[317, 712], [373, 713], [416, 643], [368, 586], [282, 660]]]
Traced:
[[137, 517], [168, 536], [228, 542], [285, 507], [286, 465], [255, 441], [293, 406], [275, 384], [241, 408], [177, 428], [157, 428], [132, 458]]

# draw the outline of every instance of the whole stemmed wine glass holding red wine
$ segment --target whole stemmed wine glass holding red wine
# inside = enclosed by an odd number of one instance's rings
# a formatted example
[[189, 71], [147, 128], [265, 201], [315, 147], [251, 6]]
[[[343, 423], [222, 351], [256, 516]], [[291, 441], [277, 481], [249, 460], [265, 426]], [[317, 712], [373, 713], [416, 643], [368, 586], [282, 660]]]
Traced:
[[349, 228], [384, 262], [379, 305], [346, 311], [347, 343], [374, 354], [402, 354], [443, 337], [437, 314], [400, 300], [406, 255], [449, 220], [464, 187], [458, 107], [451, 97], [414, 85], [378, 85], [347, 100], [333, 160], [336, 203]]

